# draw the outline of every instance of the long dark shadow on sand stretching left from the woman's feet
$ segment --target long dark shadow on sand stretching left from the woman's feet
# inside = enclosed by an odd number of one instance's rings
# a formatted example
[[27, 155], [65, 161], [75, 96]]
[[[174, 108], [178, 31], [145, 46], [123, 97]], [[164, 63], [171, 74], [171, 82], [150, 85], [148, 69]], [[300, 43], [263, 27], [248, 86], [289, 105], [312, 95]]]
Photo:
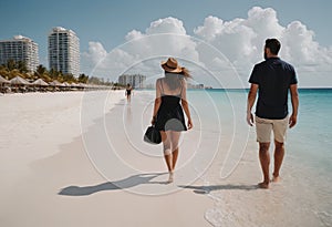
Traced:
[[[58, 195], [62, 196], [87, 196], [94, 193], [98, 193], [102, 190], [117, 190], [131, 188], [142, 184], [157, 184], [156, 182], [151, 182], [153, 178], [164, 175], [165, 173], [154, 173], [154, 174], [137, 174], [134, 176], [129, 176], [125, 179], [116, 180], [116, 182], [106, 182], [98, 185], [93, 186], [69, 186], [61, 189]], [[163, 183], [158, 183], [163, 184]]]

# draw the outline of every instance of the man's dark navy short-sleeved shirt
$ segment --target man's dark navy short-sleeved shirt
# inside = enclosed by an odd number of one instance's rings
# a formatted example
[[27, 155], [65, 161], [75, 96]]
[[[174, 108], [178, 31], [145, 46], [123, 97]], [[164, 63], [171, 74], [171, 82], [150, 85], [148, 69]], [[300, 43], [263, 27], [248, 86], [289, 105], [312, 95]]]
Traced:
[[288, 91], [298, 83], [291, 64], [279, 58], [267, 59], [253, 66], [249, 83], [258, 84], [258, 117], [281, 120], [288, 115]]

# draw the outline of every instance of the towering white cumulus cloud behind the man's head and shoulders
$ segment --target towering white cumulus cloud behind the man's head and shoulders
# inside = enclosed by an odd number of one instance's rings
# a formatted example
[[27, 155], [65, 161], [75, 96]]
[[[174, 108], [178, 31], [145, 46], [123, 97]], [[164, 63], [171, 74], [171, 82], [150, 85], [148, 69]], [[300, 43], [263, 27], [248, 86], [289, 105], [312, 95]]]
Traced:
[[194, 32], [230, 60], [243, 83], [252, 65], [262, 61], [264, 40], [277, 38], [281, 41], [280, 56], [295, 66], [300, 84], [332, 86], [331, 48], [320, 47], [314, 40], [314, 32], [308, 30], [300, 21], [281, 25], [277, 12], [271, 8], [255, 7], [249, 10], [247, 19], [234, 19], [227, 22], [208, 17]]

